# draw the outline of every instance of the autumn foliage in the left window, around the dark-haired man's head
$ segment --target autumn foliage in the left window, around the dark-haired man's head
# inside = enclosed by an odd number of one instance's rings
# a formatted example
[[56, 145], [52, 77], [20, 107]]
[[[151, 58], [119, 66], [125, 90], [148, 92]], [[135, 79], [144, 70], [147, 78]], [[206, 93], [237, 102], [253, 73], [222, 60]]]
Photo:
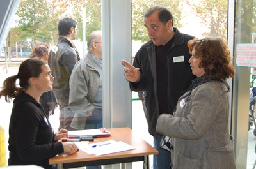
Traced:
[[[17, 11], [18, 27], [10, 32], [10, 44], [15, 41], [32, 39], [56, 44], [58, 41], [58, 22], [64, 17], [77, 21], [77, 39], [83, 39], [83, 8], [86, 7], [86, 37], [93, 30], [101, 29], [100, 0], [20, 0]], [[19, 29], [19, 34], [15, 30]], [[15, 34], [13, 34], [15, 33]], [[16, 38], [17, 37], [17, 38]]]

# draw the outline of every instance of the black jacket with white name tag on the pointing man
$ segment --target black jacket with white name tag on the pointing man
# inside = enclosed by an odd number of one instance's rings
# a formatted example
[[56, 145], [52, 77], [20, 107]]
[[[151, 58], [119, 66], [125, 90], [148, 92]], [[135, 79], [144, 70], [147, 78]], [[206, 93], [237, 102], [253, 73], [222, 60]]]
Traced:
[[[173, 110], [178, 99], [191, 84], [191, 80], [195, 78], [189, 65], [188, 41], [193, 36], [182, 34], [173, 27], [175, 36], [174, 43], [168, 52], [167, 70], [168, 70], [168, 113], [173, 114]], [[156, 77], [156, 46], [150, 40], [145, 43], [135, 55], [133, 66], [140, 68], [140, 82], [130, 82], [132, 91], [145, 91], [145, 105], [147, 107], [147, 122], [150, 135], [156, 136], [156, 123], [159, 117], [158, 96], [157, 96], [157, 77]]]

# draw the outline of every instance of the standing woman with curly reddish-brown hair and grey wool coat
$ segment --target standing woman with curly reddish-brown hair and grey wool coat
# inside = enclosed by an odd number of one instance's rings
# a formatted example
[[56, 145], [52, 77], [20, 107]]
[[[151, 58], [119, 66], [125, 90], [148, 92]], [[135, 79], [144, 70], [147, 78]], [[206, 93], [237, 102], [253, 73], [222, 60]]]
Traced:
[[159, 116], [157, 132], [171, 137], [166, 145], [172, 152], [172, 169], [236, 168], [228, 129], [227, 78], [234, 75], [234, 66], [227, 41], [207, 37], [188, 41], [188, 47], [197, 78], [179, 98], [173, 115]]

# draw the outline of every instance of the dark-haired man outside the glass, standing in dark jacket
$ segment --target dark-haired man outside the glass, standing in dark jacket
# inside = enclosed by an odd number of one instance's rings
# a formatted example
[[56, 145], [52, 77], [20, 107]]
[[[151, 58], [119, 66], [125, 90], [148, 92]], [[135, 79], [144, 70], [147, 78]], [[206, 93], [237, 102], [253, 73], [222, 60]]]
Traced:
[[74, 112], [68, 107], [69, 78], [74, 65], [79, 61], [79, 54], [72, 42], [76, 39], [76, 24], [72, 18], [63, 18], [58, 24], [59, 38], [56, 46], [52, 47], [48, 63], [54, 77], [53, 92], [60, 107], [60, 126], [73, 130], [70, 123]]

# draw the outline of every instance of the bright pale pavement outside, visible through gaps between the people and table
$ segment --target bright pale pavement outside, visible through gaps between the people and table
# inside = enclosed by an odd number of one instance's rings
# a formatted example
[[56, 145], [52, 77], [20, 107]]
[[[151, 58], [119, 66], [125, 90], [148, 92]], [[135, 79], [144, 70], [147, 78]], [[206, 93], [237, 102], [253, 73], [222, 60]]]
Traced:
[[[16, 75], [19, 68], [19, 62], [12, 62], [6, 69], [6, 64], [4, 62], [0, 62], [0, 86], [3, 85], [3, 80], [11, 75]], [[136, 92], [132, 92], [132, 98], [138, 98]], [[5, 136], [6, 136], [6, 159], [8, 159], [8, 128], [9, 128], [9, 121], [10, 121], [10, 114], [12, 111], [12, 103], [6, 103], [4, 100], [4, 97], [0, 99], [0, 125], [5, 130]], [[141, 101], [132, 101], [132, 129], [138, 133], [140, 133], [141, 137], [150, 143], [152, 145], [152, 136], [148, 134], [148, 126], [145, 119], [145, 115], [142, 108]], [[136, 115], [135, 115], [136, 114]], [[52, 128], [54, 128], [54, 131], [58, 130], [59, 125], [59, 111], [58, 108], [56, 108], [56, 112], [54, 115], [50, 116], [50, 122], [52, 124]], [[250, 130], [248, 131], [248, 156], [247, 156], [247, 168], [252, 169], [253, 164], [256, 159], [256, 154], [254, 152], [254, 146], [256, 143], [256, 136], [253, 135], [253, 129], [254, 126], [250, 127]], [[142, 162], [136, 162], [133, 163], [134, 169], [143, 168]], [[152, 156], [150, 156], [150, 166], [152, 168]]]

